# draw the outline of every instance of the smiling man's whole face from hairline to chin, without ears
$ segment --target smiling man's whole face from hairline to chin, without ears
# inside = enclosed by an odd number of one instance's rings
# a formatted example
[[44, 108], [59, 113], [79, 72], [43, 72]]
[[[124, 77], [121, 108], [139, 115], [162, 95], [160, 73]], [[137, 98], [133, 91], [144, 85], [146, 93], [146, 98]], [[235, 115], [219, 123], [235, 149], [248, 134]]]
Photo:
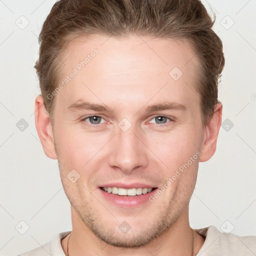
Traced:
[[[157, 237], [187, 210], [204, 132], [198, 63], [182, 40], [107, 38], [73, 42], [61, 57], [59, 83], [75, 75], [55, 96], [54, 142], [65, 193], [83, 228], [132, 247]], [[90, 54], [94, 48], [98, 53]], [[82, 102], [105, 109], [77, 107]], [[148, 108], [170, 102], [176, 107]], [[154, 189], [139, 195], [143, 188]]]

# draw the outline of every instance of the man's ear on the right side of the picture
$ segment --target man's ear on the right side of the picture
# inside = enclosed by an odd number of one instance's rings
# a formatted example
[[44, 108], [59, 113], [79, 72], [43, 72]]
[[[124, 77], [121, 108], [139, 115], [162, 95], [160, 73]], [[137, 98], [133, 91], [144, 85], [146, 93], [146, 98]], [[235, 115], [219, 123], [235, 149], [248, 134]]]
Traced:
[[209, 160], [216, 151], [217, 137], [221, 125], [221, 116], [222, 104], [217, 103], [214, 107], [214, 113], [211, 119], [204, 127], [201, 155], [199, 157], [200, 162]]

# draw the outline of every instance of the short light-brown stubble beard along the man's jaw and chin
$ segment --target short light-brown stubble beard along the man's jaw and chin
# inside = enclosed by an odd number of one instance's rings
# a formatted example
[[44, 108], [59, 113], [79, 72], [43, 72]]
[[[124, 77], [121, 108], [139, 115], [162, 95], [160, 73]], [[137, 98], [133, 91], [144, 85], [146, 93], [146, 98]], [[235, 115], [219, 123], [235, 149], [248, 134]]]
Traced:
[[[149, 221], [147, 228], [138, 230], [135, 226], [131, 225], [131, 229], [127, 233], [123, 233], [118, 229], [118, 225], [121, 224], [121, 221], [118, 223], [118, 219], [113, 216], [109, 215], [109, 220], [114, 220], [110, 225], [111, 227], [109, 227], [106, 226], [104, 221], [100, 219], [100, 216], [96, 214], [96, 209], [92, 209], [90, 205], [77, 205], [75, 203], [71, 203], [71, 205], [84, 225], [101, 241], [115, 247], [135, 248], [144, 246], [153, 239], [163, 235], [176, 222], [183, 208], [177, 212], [177, 209], [172, 207], [172, 205], [176, 205], [175, 203], [176, 202], [169, 203], [165, 209], [159, 209], [154, 219], [147, 220]], [[147, 214], [146, 207], [139, 214]], [[142, 217], [141, 219], [141, 221], [143, 221], [144, 218]], [[127, 220], [127, 222], [129, 221]]]

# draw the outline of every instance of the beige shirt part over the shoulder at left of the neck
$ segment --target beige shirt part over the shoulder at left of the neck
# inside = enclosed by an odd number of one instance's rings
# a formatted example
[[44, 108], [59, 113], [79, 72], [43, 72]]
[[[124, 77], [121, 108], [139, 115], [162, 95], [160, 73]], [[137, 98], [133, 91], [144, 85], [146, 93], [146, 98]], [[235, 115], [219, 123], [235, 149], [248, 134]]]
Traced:
[[58, 233], [51, 241], [18, 256], [65, 256], [61, 246], [61, 239], [70, 231]]

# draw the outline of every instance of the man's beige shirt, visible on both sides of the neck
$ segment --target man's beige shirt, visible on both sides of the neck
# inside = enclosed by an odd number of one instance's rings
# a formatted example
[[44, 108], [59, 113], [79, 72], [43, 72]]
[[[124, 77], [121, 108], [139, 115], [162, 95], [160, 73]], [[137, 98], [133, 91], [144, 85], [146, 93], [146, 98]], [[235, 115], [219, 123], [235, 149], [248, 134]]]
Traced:
[[[196, 256], [255, 256], [256, 236], [237, 236], [222, 233], [214, 226], [194, 229], [205, 237], [205, 241]], [[50, 242], [45, 243], [19, 256], [65, 256], [60, 240], [70, 231], [61, 232]]]

